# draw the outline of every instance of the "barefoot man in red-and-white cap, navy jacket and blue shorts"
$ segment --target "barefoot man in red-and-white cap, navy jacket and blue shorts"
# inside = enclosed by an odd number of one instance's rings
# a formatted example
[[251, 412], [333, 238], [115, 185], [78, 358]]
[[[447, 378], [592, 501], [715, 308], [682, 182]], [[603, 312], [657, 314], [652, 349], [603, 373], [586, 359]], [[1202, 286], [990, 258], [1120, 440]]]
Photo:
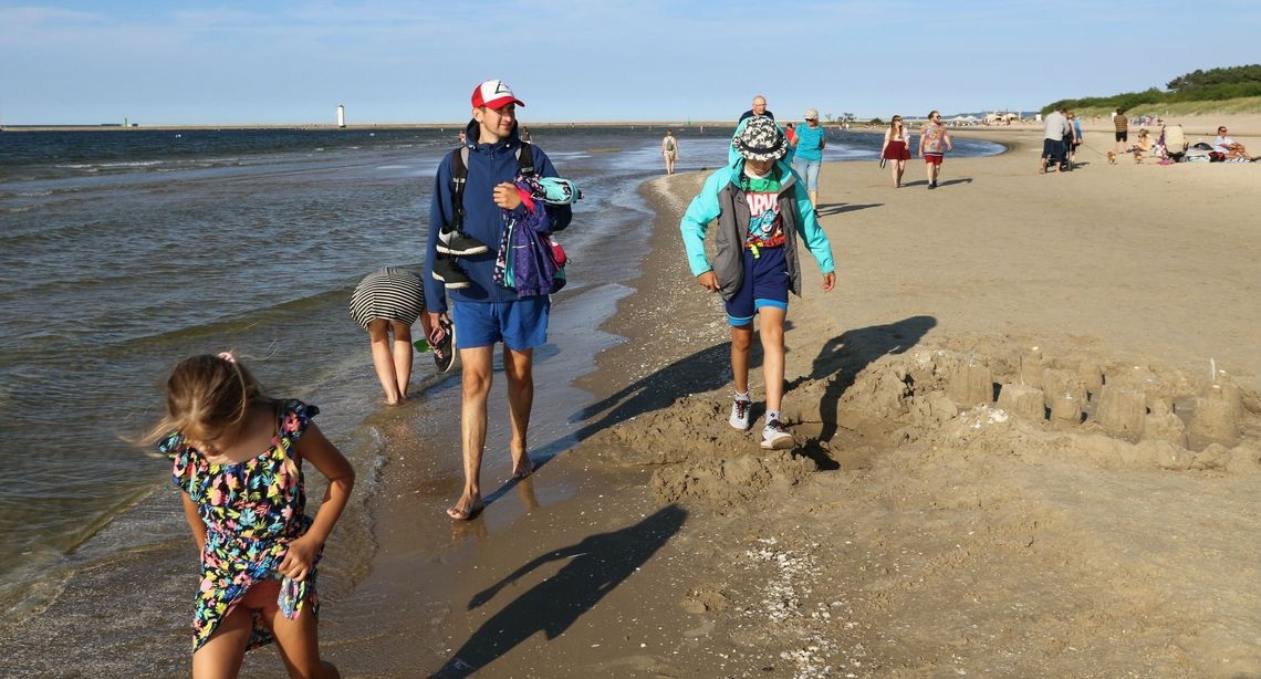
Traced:
[[[468, 520], [483, 508], [482, 455], [485, 447], [487, 397], [491, 392], [494, 345], [503, 343], [503, 373], [508, 379], [508, 411], [512, 423], [512, 476], [523, 479], [533, 471], [526, 451], [530, 411], [533, 404], [533, 350], [547, 341], [551, 300], [546, 295], [518, 299], [512, 290], [493, 282], [494, 260], [503, 239], [504, 210], [525, 217], [526, 208], [513, 184], [523, 168], [537, 176], [556, 176], [547, 155], [533, 145], [522, 146], [517, 136], [516, 107], [525, 106], [503, 81], [485, 81], [473, 91], [473, 120], [465, 128], [468, 149], [463, 190], [456, 190], [449, 154], [438, 166], [434, 199], [429, 210], [429, 242], [425, 257], [425, 302], [434, 326], [449, 322], [446, 292], [450, 290], [455, 346], [463, 365], [460, 432], [464, 451], [464, 493], [446, 510], [456, 520]], [[523, 156], [525, 154], [530, 156]], [[456, 204], [456, 194], [463, 199]], [[569, 205], [549, 205], [550, 231], [569, 225]], [[454, 287], [435, 280], [440, 231], [459, 227], [462, 237], [488, 248], [464, 254], [459, 266], [467, 285]], [[454, 267], [450, 260], [440, 262]], [[464, 281], [462, 281], [464, 282]]]

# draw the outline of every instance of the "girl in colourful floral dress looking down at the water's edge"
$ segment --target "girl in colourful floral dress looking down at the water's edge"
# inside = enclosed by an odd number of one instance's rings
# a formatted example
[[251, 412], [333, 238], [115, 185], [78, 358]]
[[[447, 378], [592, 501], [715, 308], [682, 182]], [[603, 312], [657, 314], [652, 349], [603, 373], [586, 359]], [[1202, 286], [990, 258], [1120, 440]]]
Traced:
[[[207, 354], [175, 367], [166, 412], [149, 440], [174, 464], [202, 553], [193, 676], [236, 676], [272, 640], [291, 676], [339, 676], [319, 658], [315, 563], [354, 470], [310, 421], [319, 408], [267, 398], [232, 354]], [[314, 519], [303, 461], [328, 477]]]

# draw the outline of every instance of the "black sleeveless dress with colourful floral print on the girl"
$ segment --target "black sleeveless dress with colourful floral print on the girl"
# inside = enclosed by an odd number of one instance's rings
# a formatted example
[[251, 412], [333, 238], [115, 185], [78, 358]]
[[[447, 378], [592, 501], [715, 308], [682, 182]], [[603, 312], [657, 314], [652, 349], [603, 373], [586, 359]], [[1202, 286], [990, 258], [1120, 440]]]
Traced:
[[[290, 451], [319, 408], [286, 401], [276, 404], [276, 413], [271, 447], [243, 462], [211, 464], [179, 432], [158, 446], [174, 462], [175, 485], [188, 493], [206, 523], [202, 582], [193, 616], [194, 653], [255, 582], [281, 581], [277, 603], [290, 620], [296, 619], [304, 606], [319, 613], [315, 568], [303, 582], [276, 571], [289, 543], [305, 534], [311, 524], [305, 514], [301, 459]], [[255, 612], [248, 649], [270, 644], [272, 639], [262, 616]]]

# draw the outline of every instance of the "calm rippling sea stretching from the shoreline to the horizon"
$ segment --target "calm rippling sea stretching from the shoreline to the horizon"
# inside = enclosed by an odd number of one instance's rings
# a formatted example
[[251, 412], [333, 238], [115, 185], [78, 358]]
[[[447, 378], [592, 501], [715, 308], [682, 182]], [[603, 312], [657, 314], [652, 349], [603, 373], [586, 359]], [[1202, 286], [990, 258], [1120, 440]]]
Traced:
[[[434, 171], [456, 134], [0, 132], [0, 622], [77, 568], [187, 539], [177, 506], [140, 501], [169, 485], [169, 465], [126, 441], [160, 416], [160, 385], [187, 355], [237, 351], [270, 392], [319, 403], [357, 466], [376, 464], [366, 422], [380, 385], [347, 305], [380, 266], [419, 271]], [[536, 130], [586, 194], [564, 236], [579, 266], [646, 228], [636, 189], [661, 174], [662, 134]], [[676, 134], [680, 170], [725, 161], [730, 130]], [[828, 160], [870, 160], [880, 137], [830, 144]], [[414, 383], [438, 379], [416, 365]]]

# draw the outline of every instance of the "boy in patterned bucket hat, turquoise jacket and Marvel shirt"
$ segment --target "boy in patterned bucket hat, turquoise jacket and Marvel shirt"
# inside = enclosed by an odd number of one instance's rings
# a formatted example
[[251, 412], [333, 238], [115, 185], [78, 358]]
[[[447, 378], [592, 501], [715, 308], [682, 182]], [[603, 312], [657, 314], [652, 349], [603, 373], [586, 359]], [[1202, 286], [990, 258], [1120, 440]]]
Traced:
[[[801, 178], [783, 161], [788, 141], [768, 117], [749, 118], [731, 137], [731, 160], [711, 174], [692, 199], [678, 228], [687, 262], [701, 287], [723, 295], [731, 326], [731, 372], [735, 398], [728, 422], [749, 428], [749, 348], [753, 319], [760, 316], [762, 375], [767, 389], [767, 418], [762, 447], [792, 448], [796, 442], [784, 427], [779, 408], [784, 389], [784, 317], [788, 292], [801, 296], [801, 258], [797, 238], [805, 241], [823, 273], [823, 292], [832, 290], [836, 273], [832, 248]], [[718, 220], [716, 254], [705, 254], [705, 232]]]

